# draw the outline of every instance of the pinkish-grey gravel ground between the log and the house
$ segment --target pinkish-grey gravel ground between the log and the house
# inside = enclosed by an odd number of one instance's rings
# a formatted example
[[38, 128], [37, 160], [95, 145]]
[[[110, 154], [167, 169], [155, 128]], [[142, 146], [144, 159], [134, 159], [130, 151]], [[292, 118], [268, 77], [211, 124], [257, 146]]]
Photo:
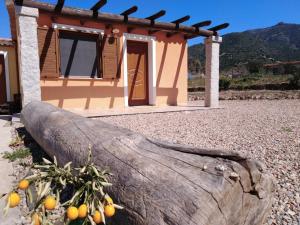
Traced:
[[221, 106], [224, 108], [98, 119], [149, 137], [234, 150], [262, 160], [276, 178], [275, 202], [266, 224], [299, 225], [300, 101], [221, 101]]

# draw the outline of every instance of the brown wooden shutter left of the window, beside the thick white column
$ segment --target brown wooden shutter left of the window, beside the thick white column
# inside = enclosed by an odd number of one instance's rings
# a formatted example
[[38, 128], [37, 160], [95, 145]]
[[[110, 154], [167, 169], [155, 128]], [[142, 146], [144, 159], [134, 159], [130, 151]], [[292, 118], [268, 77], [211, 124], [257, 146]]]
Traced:
[[57, 35], [52, 28], [38, 28], [41, 77], [59, 77]]

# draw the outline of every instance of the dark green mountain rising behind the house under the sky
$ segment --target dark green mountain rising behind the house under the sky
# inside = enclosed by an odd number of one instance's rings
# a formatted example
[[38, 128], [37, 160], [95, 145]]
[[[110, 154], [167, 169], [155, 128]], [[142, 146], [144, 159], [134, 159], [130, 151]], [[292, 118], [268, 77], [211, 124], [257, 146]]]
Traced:
[[[221, 44], [221, 71], [237, 65], [300, 60], [300, 24], [278, 23], [275, 26], [229, 33]], [[189, 47], [189, 70], [203, 71], [204, 45]]]

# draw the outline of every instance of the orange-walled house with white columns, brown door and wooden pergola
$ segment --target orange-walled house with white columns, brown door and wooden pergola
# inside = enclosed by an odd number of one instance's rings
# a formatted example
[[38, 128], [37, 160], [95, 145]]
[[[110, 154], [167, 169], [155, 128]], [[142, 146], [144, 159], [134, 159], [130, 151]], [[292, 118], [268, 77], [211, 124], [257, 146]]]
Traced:
[[[187, 40], [206, 37], [207, 106], [217, 107], [219, 45], [215, 29], [100, 13], [31, 0], [6, 0], [17, 43], [22, 105], [42, 100], [65, 109], [187, 103]], [[224, 26], [223, 26], [224, 28]], [[218, 86], [218, 85], [217, 85]], [[209, 91], [209, 92], [208, 92]]]

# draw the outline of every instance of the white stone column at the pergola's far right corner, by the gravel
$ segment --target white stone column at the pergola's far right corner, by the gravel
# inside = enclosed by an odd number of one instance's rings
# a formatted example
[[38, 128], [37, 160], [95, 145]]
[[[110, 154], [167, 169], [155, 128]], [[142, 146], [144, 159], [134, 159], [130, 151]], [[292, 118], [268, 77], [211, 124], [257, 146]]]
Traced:
[[205, 39], [205, 106], [219, 107], [219, 57], [222, 37]]

